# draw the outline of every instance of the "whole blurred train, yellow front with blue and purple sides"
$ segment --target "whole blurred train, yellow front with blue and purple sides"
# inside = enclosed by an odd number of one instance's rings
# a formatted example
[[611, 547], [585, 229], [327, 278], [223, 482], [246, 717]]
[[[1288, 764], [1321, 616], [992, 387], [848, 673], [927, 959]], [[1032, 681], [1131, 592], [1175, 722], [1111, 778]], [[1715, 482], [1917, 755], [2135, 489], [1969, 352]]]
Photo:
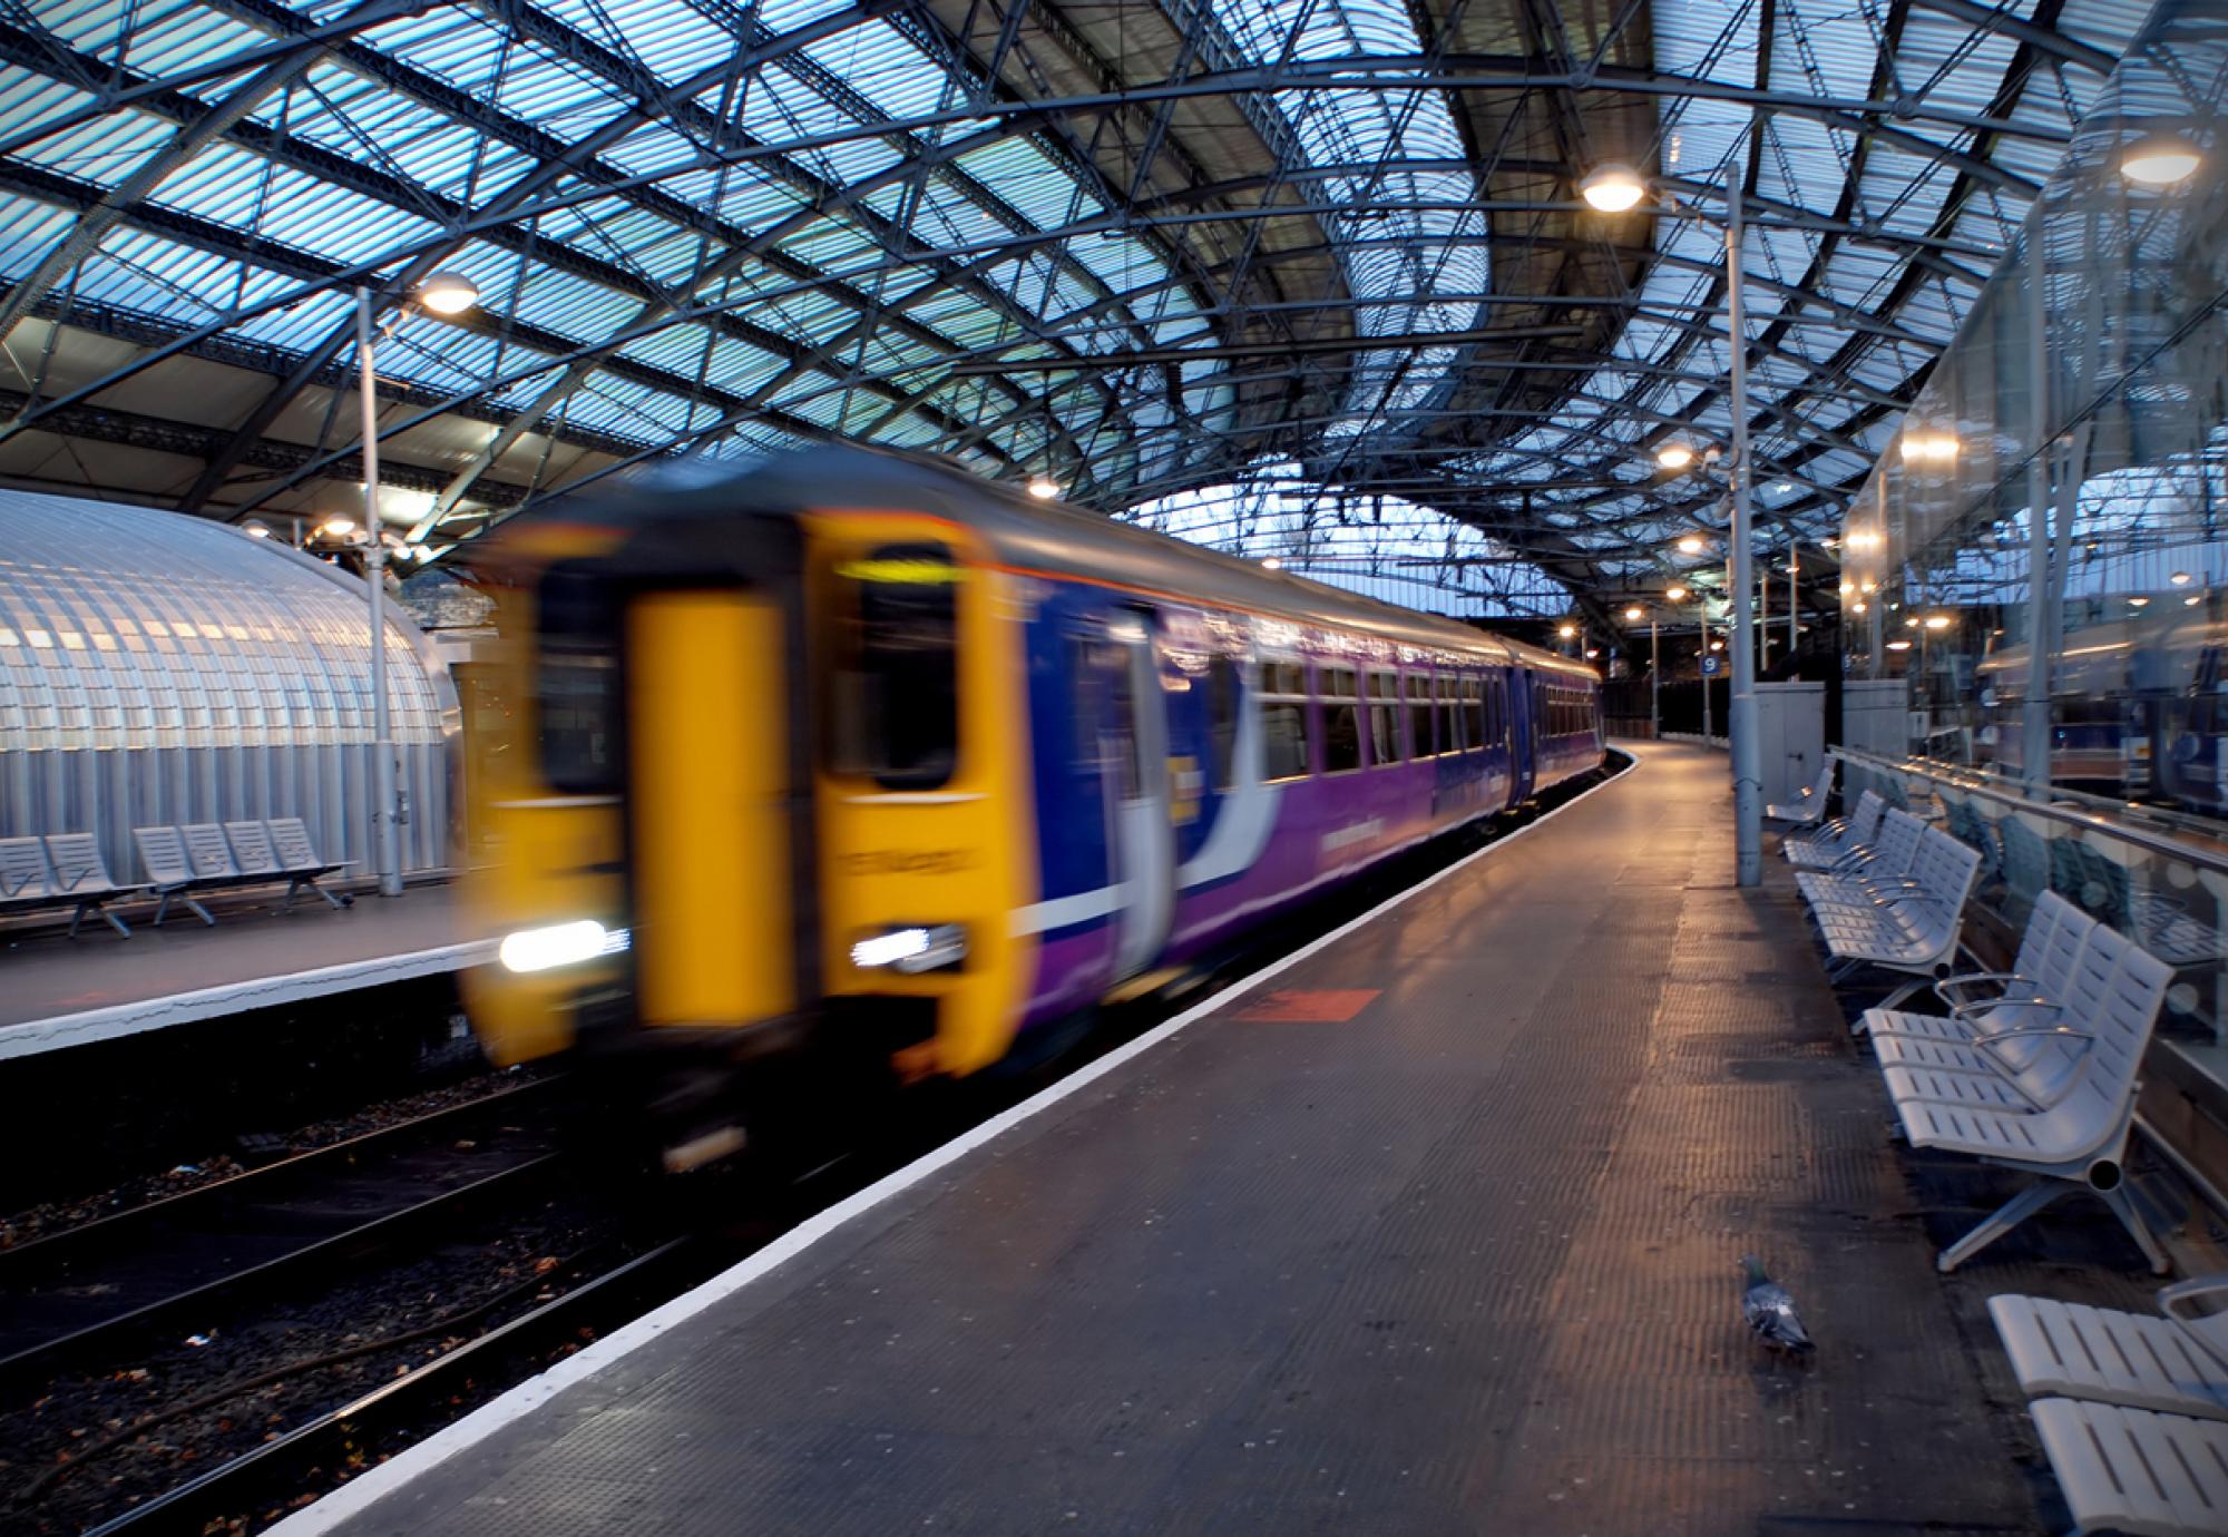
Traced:
[[490, 544], [504, 1063], [971, 1074], [1602, 762], [1591, 668], [891, 454]]

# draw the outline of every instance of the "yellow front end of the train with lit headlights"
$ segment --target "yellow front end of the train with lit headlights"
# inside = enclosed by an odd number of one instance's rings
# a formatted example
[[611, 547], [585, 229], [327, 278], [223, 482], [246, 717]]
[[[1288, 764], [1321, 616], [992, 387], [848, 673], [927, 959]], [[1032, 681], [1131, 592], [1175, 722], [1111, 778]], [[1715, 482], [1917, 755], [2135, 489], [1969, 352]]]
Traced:
[[475, 742], [490, 1054], [573, 1051], [673, 1125], [769, 1056], [996, 1060], [1027, 797], [967, 530], [722, 510], [517, 544], [517, 704]]

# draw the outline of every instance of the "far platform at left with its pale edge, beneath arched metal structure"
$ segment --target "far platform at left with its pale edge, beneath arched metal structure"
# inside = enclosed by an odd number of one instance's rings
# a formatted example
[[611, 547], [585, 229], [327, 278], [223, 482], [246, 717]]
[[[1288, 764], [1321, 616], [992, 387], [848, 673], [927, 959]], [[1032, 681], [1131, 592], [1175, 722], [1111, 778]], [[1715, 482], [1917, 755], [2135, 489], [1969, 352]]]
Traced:
[[129, 940], [94, 927], [0, 938], [0, 1060], [149, 1029], [276, 1009], [385, 982], [457, 971], [495, 956], [463, 931], [448, 884], [399, 898], [359, 895], [348, 911], [316, 898], [287, 911], [265, 898], [227, 904], [205, 927], [183, 913]]

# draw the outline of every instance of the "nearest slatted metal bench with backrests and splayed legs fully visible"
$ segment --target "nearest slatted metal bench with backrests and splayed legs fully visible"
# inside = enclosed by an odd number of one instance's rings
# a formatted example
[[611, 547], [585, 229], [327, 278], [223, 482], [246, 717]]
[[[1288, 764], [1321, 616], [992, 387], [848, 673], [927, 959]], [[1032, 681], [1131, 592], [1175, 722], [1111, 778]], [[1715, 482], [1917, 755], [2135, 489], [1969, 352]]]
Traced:
[[2090, 1190], [2166, 1274], [2166, 1254], [2128, 1198], [2123, 1163], [2143, 1047], [2172, 976], [2163, 960], [2099, 924], [2063, 1002], [2001, 1002], [1970, 1047], [1945, 1045], [1952, 1056], [1927, 1067], [1883, 1067], [1912, 1147], [2041, 1176], [1943, 1250], [1938, 1270], [1956, 1270], [2059, 1196]]

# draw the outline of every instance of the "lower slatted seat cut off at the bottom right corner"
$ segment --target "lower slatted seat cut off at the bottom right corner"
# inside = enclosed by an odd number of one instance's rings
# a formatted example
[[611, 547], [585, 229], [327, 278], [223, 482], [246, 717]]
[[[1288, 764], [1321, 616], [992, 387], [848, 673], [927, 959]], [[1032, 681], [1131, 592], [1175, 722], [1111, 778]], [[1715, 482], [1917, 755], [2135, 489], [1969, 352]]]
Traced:
[[2076, 1533], [2228, 1533], [2228, 1423], [2114, 1403], [2027, 1406]]

